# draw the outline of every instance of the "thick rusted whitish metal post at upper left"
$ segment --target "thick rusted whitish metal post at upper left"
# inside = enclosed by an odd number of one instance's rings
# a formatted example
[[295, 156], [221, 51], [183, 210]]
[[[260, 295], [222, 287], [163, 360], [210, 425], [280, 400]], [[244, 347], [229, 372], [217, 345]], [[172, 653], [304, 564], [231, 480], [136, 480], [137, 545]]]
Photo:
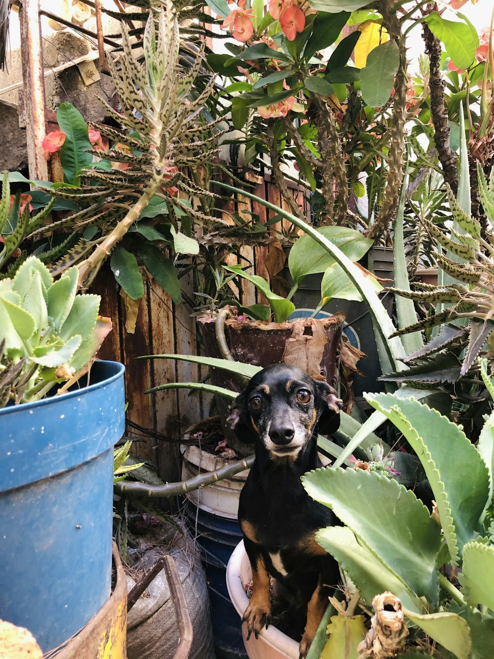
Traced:
[[48, 166], [41, 146], [46, 134], [46, 123], [45, 76], [39, 10], [39, 0], [23, 0], [20, 5], [20, 53], [29, 175], [31, 179], [47, 181]]

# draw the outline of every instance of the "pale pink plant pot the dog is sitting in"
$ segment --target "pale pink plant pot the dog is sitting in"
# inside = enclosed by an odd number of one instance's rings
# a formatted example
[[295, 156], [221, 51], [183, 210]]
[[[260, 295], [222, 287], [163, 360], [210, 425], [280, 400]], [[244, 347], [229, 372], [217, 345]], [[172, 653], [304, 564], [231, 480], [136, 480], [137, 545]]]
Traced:
[[[227, 567], [228, 592], [240, 618], [244, 615], [249, 604], [244, 583], [248, 583], [251, 577], [250, 561], [242, 540], [236, 546]], [[252, 634], [247, 641], [247, 626], [244, 623], [242, 625], [242, 637], [249, 659], [298, 659], [298, 643], [274, 625], [262, 629], [257, 639]]]

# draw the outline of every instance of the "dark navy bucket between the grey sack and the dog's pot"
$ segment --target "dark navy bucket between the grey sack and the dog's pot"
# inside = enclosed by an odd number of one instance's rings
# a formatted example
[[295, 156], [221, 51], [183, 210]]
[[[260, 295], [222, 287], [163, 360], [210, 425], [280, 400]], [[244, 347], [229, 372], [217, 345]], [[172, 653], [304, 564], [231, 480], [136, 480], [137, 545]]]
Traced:
[[242, 540], [238, 520], [212, 515], [187, 501], [186, 517], [195, 534], [209, 586], [213, 637], [218, 659], [247, 659], [240, 619], [227, 588], [227, 565]]

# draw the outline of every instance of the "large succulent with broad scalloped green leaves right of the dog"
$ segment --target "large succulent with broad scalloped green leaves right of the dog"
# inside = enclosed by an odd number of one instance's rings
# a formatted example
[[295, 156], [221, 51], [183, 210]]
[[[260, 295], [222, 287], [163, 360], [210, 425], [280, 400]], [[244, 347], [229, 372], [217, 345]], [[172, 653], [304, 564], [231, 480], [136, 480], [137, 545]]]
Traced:
[[[485, 360], [481, 374], [493, 395]], [[344, 526], [319, 531], [317, 542], [337, 558], [364, 609], [385, 591], [400, 599], [414, 627], [410, 654], [400, 656], [416, 656], [413, 640], [427, 635], [442, 646], [440, 656], [487, 659], [494, 643], [494, 414], [475, 447], [462, 428], [414, 399], [366, 398], [415, 449], [437, 509], [429, 515], [413, 492], [378, 473], [318, 469], [302, 478], [304, 487]], [[461, 569], [458, 586], [445, 576], [446, 564]]]

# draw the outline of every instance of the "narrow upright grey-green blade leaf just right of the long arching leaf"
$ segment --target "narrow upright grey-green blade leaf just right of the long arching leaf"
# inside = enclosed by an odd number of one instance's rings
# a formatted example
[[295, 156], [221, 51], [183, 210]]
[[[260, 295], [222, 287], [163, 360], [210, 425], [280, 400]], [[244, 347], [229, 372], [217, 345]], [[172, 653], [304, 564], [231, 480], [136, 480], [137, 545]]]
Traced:
[[[404, 291], [410, 291], [410, 281], [408, 281], [408, 270], [406, 268], [404, 237], [403, 237], [403, 216], [405, 207], [405, 190], [406, 179], [403, 181], [400, 194], [400, 204], [398, 206], [397, 219], [395, 220], [395, 236], [393, 238], [393, 265], [395, 287]], [[401, 295], [395, 295], [395, 304], [397, 306], [398, 327], [406, 328], [417, 322], [417, 312], [414, 301], [406, 299]], [[401, 339], [407, 355], [411, 355], [416, 350], [424, 346], [424, 339], [420, 331], [405, 334]]]

